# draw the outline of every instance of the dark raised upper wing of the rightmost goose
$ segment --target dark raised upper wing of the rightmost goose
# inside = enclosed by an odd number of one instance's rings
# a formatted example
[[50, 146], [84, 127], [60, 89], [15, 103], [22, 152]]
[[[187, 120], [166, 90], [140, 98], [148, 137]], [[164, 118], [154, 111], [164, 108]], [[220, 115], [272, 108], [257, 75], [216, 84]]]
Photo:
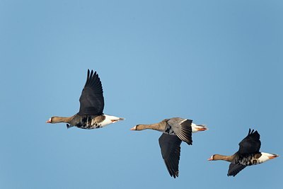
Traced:
[[239, 154], [255, 154], [260, 152], [260, 134], [248, 130], [248, 136], [239, 143]]

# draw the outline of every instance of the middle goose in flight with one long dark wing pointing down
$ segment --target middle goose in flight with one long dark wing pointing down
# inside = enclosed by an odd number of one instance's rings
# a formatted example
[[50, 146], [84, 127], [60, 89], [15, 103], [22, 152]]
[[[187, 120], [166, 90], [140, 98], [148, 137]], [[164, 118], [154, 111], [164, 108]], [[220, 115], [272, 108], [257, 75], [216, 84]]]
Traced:
[[179, 176], [180, 144], [186, 142], [192, 145], [192, 132], [207, 130], [205, 125], [196, 125], [192, 120], [183, 118], [170, 118], [149, 125], [136, 125], [130, 130], [157, 130], [163, 132], [158, 142], [161, 155], [170, 176]]

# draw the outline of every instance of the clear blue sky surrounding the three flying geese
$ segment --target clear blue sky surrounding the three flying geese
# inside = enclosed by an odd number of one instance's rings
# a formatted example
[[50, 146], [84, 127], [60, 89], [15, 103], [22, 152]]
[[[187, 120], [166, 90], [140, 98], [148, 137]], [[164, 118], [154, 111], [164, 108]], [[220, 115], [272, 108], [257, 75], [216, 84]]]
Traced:
[[[0, 1], [0, 188], [282, 188], [283, 1]], [[98, 71], [98, 130], [45, 124], [79, 111]], [[171, 178], [160, 132], [190, 118], [208, 131], [181, 145]], [[279, 158], [227, 177], [248, 128]]]

